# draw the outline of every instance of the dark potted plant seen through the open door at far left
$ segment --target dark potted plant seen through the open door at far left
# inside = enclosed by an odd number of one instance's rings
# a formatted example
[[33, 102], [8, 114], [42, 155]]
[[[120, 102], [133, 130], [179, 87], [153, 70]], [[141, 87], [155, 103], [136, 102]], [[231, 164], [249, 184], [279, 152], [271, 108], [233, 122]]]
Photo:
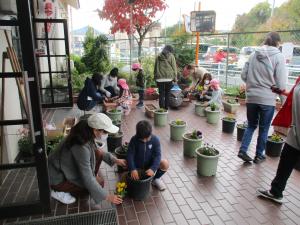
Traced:
[[30, 131], [27, 128], [20, 128], [18, 130], [20, 139], [18, 140], [19, 154], [16, 157], [16, 162], [32, 162], [33, 157], [33, 144], [30, 138]]

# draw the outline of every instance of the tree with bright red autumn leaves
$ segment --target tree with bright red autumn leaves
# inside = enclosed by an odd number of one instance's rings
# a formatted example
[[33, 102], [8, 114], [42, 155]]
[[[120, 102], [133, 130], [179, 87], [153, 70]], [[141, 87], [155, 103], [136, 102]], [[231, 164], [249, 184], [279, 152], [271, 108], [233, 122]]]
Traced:
[[[132, 9], [131, 9], [132, 7]], [[142, 44], [147, 32], [157, 23], [157, 12], [165, 10], [166, 0], [105, 0], [100, 16], [111, 22], [111, 32], [126, 32], [134, 35], [138, 44], [138, 56], [141, 56]], [[132, 30], [130, 14], [132, 10]]]

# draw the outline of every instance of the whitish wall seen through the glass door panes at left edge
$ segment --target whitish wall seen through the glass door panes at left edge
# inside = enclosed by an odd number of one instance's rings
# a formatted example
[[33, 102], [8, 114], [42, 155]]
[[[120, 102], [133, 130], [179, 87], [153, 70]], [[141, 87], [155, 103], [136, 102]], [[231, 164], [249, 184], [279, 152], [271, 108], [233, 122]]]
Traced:
[[[10, 33], [10, 31], [8, 31]], [[10, 40], [11, 41], [11, 40]], [[0, 66], [2, 68], [2, 53], [6, 51], [6, 39], [4, 31], [0, 30]], [[6, 72], [12, 72], [9, 60], [6, 60]], [[2, 69], [1, 69], [2, 72]], [[0, 79], [0, 89], [2, 87], [2, 79]], [[2, 90], [1, 92], [2, 93]], [[1, 107], [3, 104], [1, 103]], [[18, 88], [14, 78], [5, 80], [5, 100], [4, 100], [4, 119], [21, 119], [20, 100]], [[18, 136], [16, 135], [21, 126], [5, 126], [4, 127], [4, 163], [13, 163], [18, 154]]]

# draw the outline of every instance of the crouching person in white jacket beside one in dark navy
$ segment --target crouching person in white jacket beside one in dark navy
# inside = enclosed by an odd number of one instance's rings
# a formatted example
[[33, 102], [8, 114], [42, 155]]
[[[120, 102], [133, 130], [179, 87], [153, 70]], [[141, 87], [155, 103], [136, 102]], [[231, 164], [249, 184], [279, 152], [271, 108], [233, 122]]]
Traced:
[[113, 68], [108, 75], [103, 77], [101, 81], [100, 91], [106, 97], [115, 97], [119, 94], [120, 88], [118, 87], [118, 68]]

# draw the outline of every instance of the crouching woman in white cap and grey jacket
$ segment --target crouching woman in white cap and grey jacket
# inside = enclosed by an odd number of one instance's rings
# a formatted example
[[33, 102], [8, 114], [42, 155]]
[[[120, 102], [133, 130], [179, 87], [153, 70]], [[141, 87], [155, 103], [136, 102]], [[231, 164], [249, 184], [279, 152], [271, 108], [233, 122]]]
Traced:
[[79, 121], [48, 158], [51, 196], [64, 203], [76, 201], [73, 197], [89, 193], [96, 204], [107, 200], [114, 204], [122, 203], [120, 196], [109, 194], [104, 189], [103, 179], [98, 175], [101, 161], [110, 166], [125, 167], [126, 161], [115, 158], [103, 151], [96, 141], [105, 141], [108, 133], [116, 133], [119, 128], [103, 113], [91, 115]]

